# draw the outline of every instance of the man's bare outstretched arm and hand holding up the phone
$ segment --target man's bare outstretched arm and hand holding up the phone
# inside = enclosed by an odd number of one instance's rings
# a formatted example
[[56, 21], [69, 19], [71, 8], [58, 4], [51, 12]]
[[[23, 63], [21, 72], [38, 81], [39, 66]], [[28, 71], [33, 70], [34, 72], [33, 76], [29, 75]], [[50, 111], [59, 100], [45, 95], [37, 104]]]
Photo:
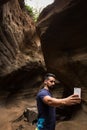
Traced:
[[57, 99], [50, 96], [45, 96], [43, 98], [43, 102], [48, 104], [49, 106], [60, 107], [64, 105], [70, 106], [78, 104], [81, 102], [81, 99], [78, 97], [78, 95], [71, 95], [63, 99]]

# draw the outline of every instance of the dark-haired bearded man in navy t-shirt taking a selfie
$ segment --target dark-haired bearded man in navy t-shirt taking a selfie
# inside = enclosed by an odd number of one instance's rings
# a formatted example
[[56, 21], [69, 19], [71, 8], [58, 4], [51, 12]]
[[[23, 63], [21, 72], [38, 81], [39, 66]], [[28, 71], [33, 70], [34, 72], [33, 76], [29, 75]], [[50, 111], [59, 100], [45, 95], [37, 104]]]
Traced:
[[54, 87], [55, 81], [54, 74], [46, 74], [44, 87], [37, 94], [38, 122], [36, 130], [55, 130], [55, 107], [74, 105], [81, 101], [78, 95], [71, 95], [63, 99], [53, 98], [50, 90]]

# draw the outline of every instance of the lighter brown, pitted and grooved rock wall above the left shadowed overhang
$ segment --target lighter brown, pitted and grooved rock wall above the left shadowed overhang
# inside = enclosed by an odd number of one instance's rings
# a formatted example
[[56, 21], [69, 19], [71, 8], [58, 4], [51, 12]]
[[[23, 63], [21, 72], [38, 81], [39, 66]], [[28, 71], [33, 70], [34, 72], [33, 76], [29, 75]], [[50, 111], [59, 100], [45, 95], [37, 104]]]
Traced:
[[21, 9], [18, 0], [1, 6], [0, 19], [0, 75], [9, 74], [31, 62], [43, 65], [35, 24]]

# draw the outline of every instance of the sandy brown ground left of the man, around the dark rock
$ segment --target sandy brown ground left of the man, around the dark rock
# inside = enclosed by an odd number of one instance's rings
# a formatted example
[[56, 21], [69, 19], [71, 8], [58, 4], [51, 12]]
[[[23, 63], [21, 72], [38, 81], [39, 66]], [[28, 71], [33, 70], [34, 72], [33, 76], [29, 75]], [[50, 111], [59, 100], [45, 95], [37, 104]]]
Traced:
[[[27, 122], [26, 119], [15, 121], [24, 112], [25, 108], [33, 107], [35, 101], [22, 100], [19, 103], [12, 102], [0, 105], [0, 130], [35, 130], [35, 125]], [[15, 121], [15, 122], [14, 122]]]

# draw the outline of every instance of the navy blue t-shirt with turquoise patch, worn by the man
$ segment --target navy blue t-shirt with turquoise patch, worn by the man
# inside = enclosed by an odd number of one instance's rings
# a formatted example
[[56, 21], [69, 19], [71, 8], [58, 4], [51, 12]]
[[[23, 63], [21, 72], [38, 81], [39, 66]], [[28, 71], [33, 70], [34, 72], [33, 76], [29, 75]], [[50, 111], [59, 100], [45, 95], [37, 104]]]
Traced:
[[46, 89], [41, 89], [37, 94], [38, 123], [39, 130], [55, 130], [56, 114], [55, 108], [43, 102], [45, 96], [52, 97], [51, 93]]

